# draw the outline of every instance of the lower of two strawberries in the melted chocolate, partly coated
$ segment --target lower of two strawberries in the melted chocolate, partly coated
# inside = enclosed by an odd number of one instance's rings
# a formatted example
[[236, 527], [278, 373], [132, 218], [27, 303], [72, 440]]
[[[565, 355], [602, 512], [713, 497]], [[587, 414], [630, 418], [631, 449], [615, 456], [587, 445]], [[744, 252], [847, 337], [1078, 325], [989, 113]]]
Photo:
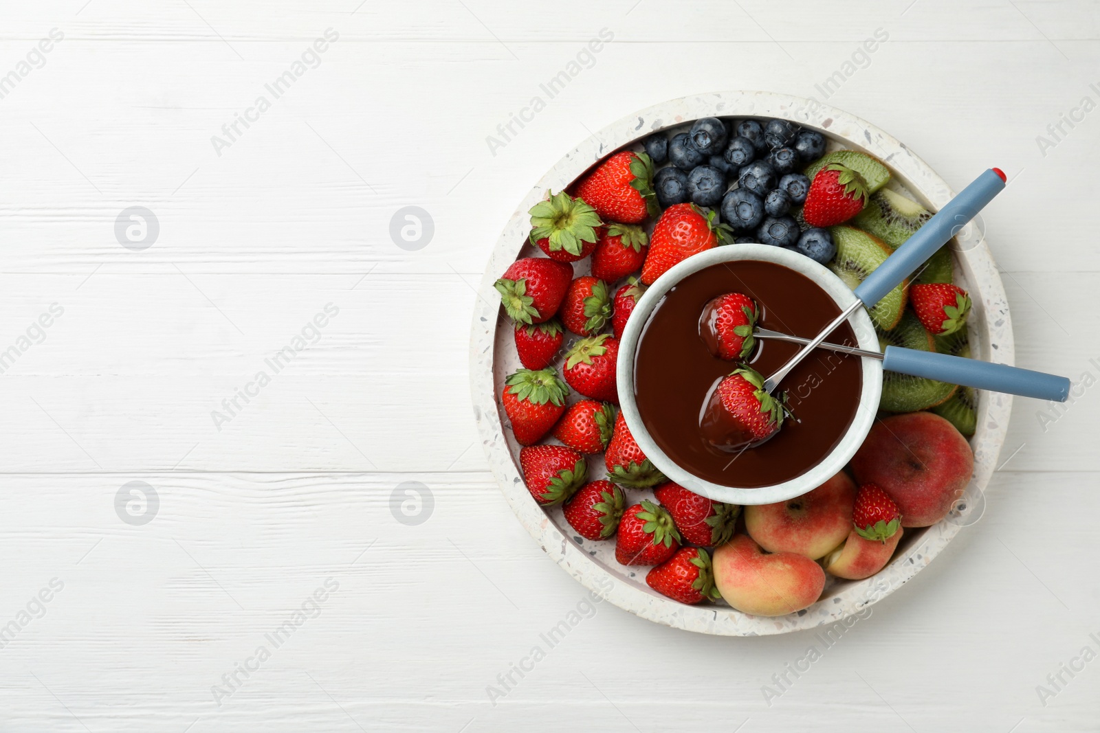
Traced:
[[783, 399], [765, 391], [763, 377], [743, 367], [718, 382], [700, 429], [713, 445], [736, 451], [778, 433], [787, 413]]

